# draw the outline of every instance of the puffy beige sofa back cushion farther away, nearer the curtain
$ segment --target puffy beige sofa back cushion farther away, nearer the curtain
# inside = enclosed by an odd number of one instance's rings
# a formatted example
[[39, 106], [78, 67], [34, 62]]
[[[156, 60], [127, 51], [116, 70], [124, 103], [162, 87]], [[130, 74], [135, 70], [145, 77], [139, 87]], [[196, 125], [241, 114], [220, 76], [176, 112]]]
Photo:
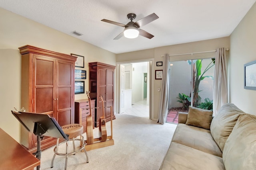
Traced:
[[234, 104], [224, 104], [220, 107], [219, 113], [212, 119], [210, 125], [212, 137], [222, 151], [238, 117], [243, 114], [245, 113]]

